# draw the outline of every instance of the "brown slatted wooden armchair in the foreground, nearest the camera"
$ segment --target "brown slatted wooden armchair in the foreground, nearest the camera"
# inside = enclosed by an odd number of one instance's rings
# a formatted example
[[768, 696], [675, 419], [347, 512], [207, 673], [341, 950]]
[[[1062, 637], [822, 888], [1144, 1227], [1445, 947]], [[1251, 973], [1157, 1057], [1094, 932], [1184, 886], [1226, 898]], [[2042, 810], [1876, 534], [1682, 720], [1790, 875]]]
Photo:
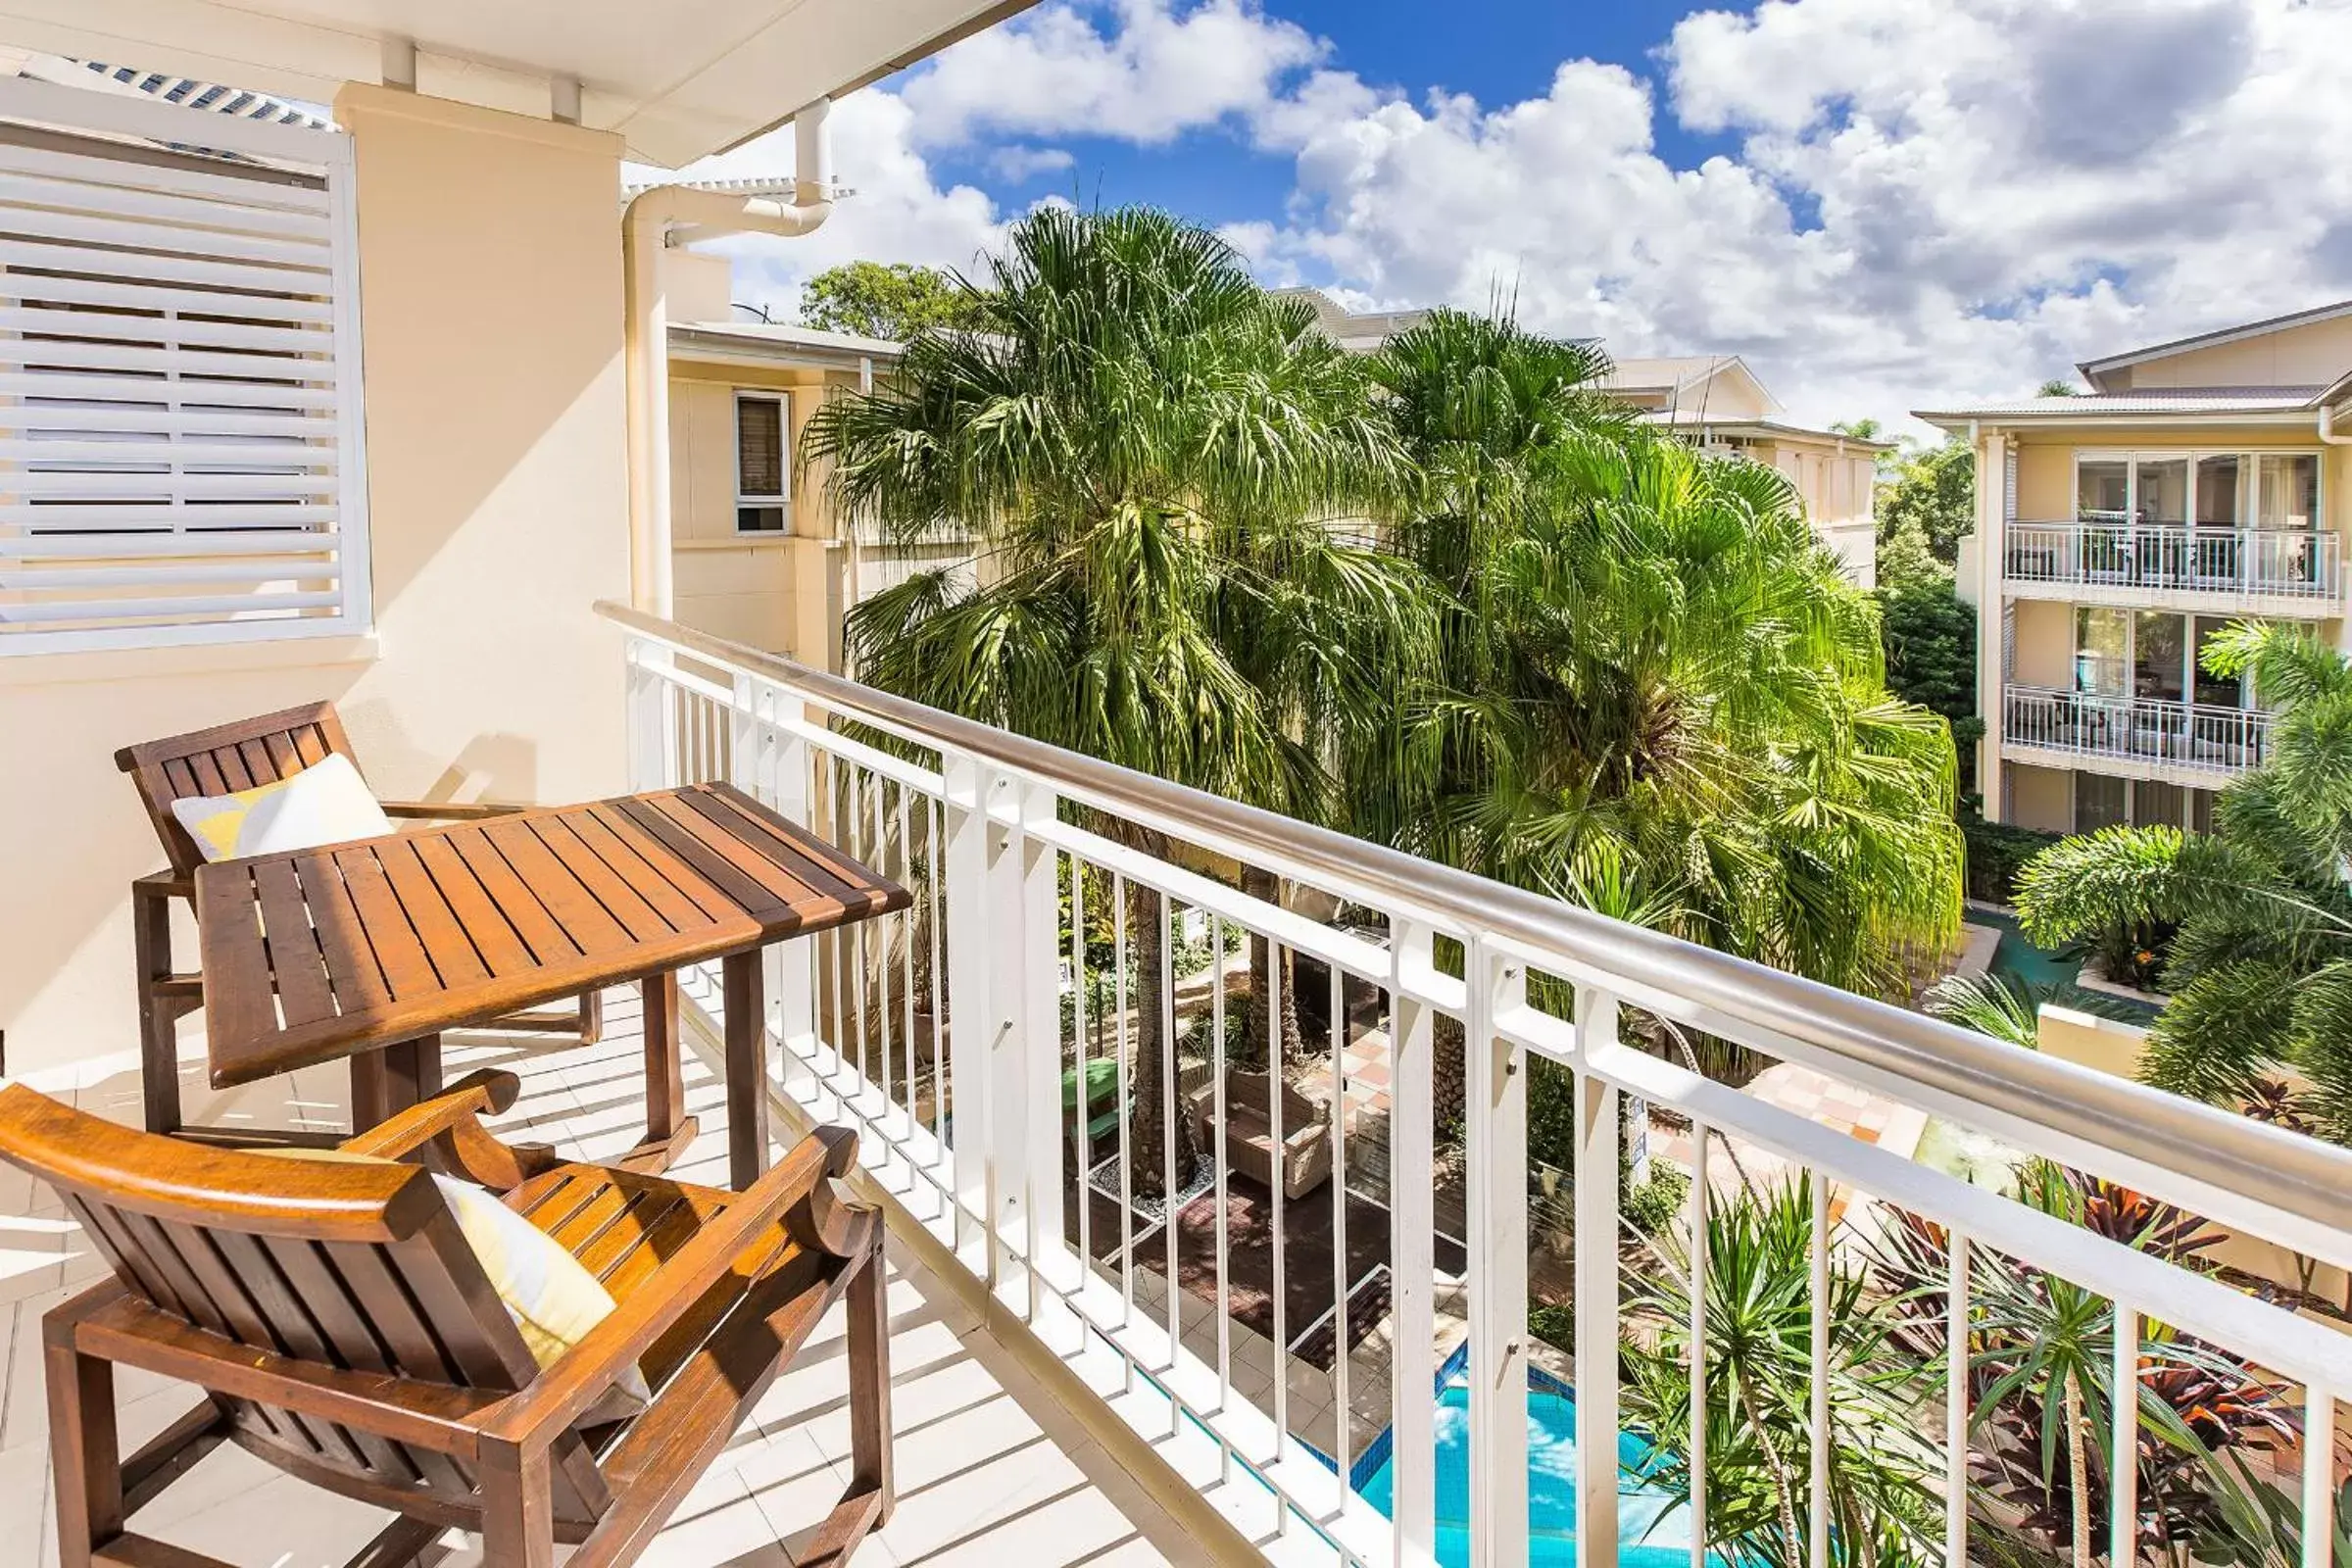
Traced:
[[[115, 1269], [42, 1319], [64, 1568], [230, 1568], [125, 1528], [223, 1439], [397, 1512], [353, 1568], [447, 1528], [482, 1533], [485, 1568], [550, 1568], [557, 1542], [579, 1544], [572, 1568], [621, 1568], [842, 1295], [851, 1479], [795, 1561], [842, 1563], [887, 1521], [882, 1222], [840, 1185], [856, 1135], [823, 1128], [720, 1192], [499, 1143], [480, 1114], [515, 1088], [477, 1072], [343, 1145], [407, 1164], [268, 1159], [0, 1091], [0, 1157], [52, 1182]], [[421, 1166], [503, 1194], [616, 1312], [534, 1366]], [[652, 1408], [581, 1427], [630, 1363]], [[205, 1403], [122, 1460], [115, 1366]]]

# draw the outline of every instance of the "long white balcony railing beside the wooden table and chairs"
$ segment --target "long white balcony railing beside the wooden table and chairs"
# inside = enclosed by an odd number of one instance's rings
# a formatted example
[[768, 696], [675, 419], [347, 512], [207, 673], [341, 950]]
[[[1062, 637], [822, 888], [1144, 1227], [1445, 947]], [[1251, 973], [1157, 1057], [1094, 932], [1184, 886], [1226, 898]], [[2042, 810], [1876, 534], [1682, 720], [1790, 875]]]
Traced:
[[[1628, 1265], [1621, 1251], [1632, 1234], [1621, 1143], [1642, 1126], [1621, 1112], [1644, 1105], [1646, 1126], [1686, 1128], [1675, 1159], [1696, 1180], [1679, 1218], [1663, 1220], [1675, 1237], [1703, 1229], [1726, 1182], [1759, 1161], [1809, 1185], [1811, 1213], [1832, 1215], [1811, 1225], [1816, 1302], [1832, 1265], [1842, 1276], [1851, 1267], [1856, 1237], [1907, 1211], [1964, 1241], [1926, 1298], [1933, 1321], [1964, 1319], [1971, 1288], [2042, 1272], [2110, 1300], [2114, 1324], [2145, 1314], [2305, 1389], [2305, 1443], [2279, 1460], [2281, 1486], [2288, 1502], [2300, 1497], [2300, 1561], [2328, 1561], [2336, 1394], [2352, 1389], [2352, 1335], [1700, 1077], [1639, 1048], [1621, 1025], [1649, 1020], [1653, 1034], [1726, 1039], [1809, 1065], [2328, 1265], [2352, 1265], [2352, 1154], [600, 609], [628, 628], [640, 788], [734, 780], [917, 893], [906, 914], [771, 950], [776, 1093], [814, 1119], [854, 1124], [873, 1175], [955, 1248], [995, 1307], [1080, 1368], [1105, 1413], [1188, 1446], [1197, 1460], [1188, 1479], [1214, 1488], [1270, 1559], [1496, 1568], [1526, 1563], [1536, 1533], [1562, 1552], [1559, 1446], [1538, 1455], [1548, 1512], [1534, 1523], [1529, 1512], [1531, 1361], [1552, 1368], [1536, 1373], [1555, 1413], [1562, 1385], [1573, 1389], [1573, 1418], [1562, 1418], [1573, 1429], [1550, 1436], [1611, 1455], [1576, 1467], [1573, 1561], [1613, 1568], [1621, 1547], [1642, 1540], [1661, 1507], [1628, 1486], [1616, 1455], [1628, 1281], [1658, 1267]], [[1242, 896], [1195, 870], [1211, 863], [1275, 872], [1301, 896], [1282, 905]], [[1317, 893], [1345, 919], [1301, 914]], [[1157, 940], [1138, 945], [1148, 936]], [[1218, 954], [1242, 936], [1296, 957], [1308, 1056], [1291, 1081], [1355, 1103], [1327, 1128], [1338, 1175], [1296, 1197], [1282, 1182], [1244, 1194], [1228, 1145], [1223, 1070], [1240, 1009], [1230, 992], [1247, 976], [1247, 945]], [[1178, 947], [1183, 957], [1171, 957]], [[1279, 985], [1282, 969], [1272, 976]], [[1160, 1018], [1150, 1034], [1148, 1013]], [[1456, 1030], [1468, 1041], [1463, 1095], [1439, 1105], [1439, 1041]], [[1160, 1074], [1207, 1084], [1216, 1110], [1207, 1192], [1176, 1227], [1124, 1201], [1136, 1171], [1131, 1114], [1084, 1131], [1089, 1070], [1112, 1063], [1112, 1110], [1131, 1110], [1145, 1077], [1157, 1077], [1141, 1058], [1148, 1037], [1160, 1041]], [[1573, 1124], [1578, 1171], [1557, 1206], [1559, 1173], [1529, 1178], [1538, 1070], [1545, 1084], [1569, 1084], [1543, 1110], [1545, 1128], [1557, 1114]], [[1263, 1114], [1279, 1145], [1294, 1107], [1275, 1098]], [[1174, 1107], [1162, 1117], [1174, 1131]], [[1665, 1157], [1658, 1145], [1651, 1135], [1651, 1161]], [[1096, 1164], [1087, 1201], [1075, 1164]], [[1708, 1251], [1684, 1267], [1691, 1295], [1705, 1300]], [[1167, 1288], [1171, 1276], [1181, 1288]], [[1573, 1335], [1545, 1319], [1555, 1342], [1571, 1340], [1557, 1354], [1531, 1340], [1531, 1284], [1571, 1302]], [[1331, 1302], [1345, 1305], [1334, 1314]], [[1722, 1354], [1710, 1331], [1693, 1314], [1691, 1354], [1703, 1363]], [[1969, 1342], [1940, 1340], [1947, 1349], [1926, 1368], [1947, 1389], [1945, 1378], [1971, 1375]], [[2129, 1349], [2138, 1335], [2119, 1342]], [[1844, 1422], [1856, 1418], [1839, 1406], [1832, 1427], [1828, 1314], [1811, 1316], [1806, 1354], [1811, 1415], [1802, 1432], [1771, 1436], [1818, 1566], [1832, 1561], [1832, 1446], [1853, 1441]], [[2129, 1354], [2117, 1366], [2138, 1375]], [[1943, 1500], [1924, 1528], [1936, 1533], [1940, 1507], [1943, 1540], [1903, 1561], [1936, 1561], [1936, 1544], [1945, 1563], [1971, 1561], [1969, 1396], [1938, 1392], [1912, 1420], [1915, 1441], [1936, 1455], [1926, 1486]], [[2098, 1446], [2131, 1453], [2140, 1403], [2112, 1401], [2112, 1429], [2107, 1420], [2098, 1415]], [[1703, 1542], [1705, 1446], [1689, 1460], [1691, 1505], [1665, 1514]], [[2126, 1544], [2105, 1561], [2138, 1561], [2131, 1488], [2117, 1497], [2093, 1554], [2105, 1556], [2117, 1533]], [[1693, 1544], [1693, 1568], [1708, 1561]]]

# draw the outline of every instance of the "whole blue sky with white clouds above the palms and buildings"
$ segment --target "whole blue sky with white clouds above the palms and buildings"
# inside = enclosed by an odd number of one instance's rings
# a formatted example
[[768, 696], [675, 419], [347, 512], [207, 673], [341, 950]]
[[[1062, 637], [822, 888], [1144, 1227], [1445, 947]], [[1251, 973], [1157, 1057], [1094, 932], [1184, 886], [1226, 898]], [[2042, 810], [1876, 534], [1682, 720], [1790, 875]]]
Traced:
[[1355, 308], [1508, 294], [1903, 421], [2352, 296], [2343, 59], [2352, 0], [1044, 0], [842, 99], [858, 195], [729, 249], [790, 315], [840, 261], [1157, 202]]

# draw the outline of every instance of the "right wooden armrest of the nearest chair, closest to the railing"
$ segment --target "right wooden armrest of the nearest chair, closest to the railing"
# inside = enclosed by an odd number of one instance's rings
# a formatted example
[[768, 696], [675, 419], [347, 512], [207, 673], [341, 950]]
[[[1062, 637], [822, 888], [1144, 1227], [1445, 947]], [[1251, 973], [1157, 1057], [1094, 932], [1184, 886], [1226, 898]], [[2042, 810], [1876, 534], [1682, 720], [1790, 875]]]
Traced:
[[[830, 1192], [830, 1182], [847, 1175], [854, 1164], [856, 1147], [856, 1135], [842, 1128], [821, 1128], [802, 1138], [555, 1366], [496, 1410], [485, 1410], [482, 1436], [527, 1446], [550, 1441], [572, 1427], [623, 1368], [635, 1366], [654, 1340], [710, 1295], [760, 1232], [779, 1222], [790, 1225], [802, 1246], [858, 1260], [880, 1234], [882, 1215]], [[809, 1204], [807, 1222], [793, 1222], [800, 1204]]]

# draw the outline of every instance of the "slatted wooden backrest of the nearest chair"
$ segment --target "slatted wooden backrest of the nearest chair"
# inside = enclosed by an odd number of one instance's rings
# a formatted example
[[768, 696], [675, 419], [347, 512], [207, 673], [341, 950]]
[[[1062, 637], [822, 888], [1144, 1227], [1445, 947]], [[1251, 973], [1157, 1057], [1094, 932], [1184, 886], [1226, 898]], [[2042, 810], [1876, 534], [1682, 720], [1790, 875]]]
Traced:
[[[513, 1392], [539, 1375], [428, 1171], [273, 1159], [158, 1138], [0, 1088], [0, 1159], [49, 1182], [122, 1288], [191, 1328], [292, 1361], [402, 1385]], [[353, 1425], [230, 1399], [240, 1446], [308, 1481], [395, 1507], [473, 1507], [449, 1455]], [[555, 1455], [560, 1516], [609, 1507], [576, 1434]]]

